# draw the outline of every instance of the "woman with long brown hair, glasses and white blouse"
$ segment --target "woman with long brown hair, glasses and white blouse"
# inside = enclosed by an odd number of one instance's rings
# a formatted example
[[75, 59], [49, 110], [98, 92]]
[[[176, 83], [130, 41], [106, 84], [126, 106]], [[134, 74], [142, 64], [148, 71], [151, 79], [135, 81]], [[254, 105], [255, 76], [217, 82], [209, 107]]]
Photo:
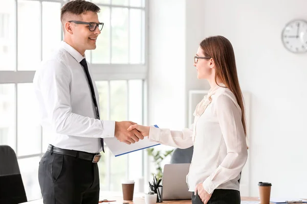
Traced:
[[193, 130], [131, 125], [152, 141], [179, 148], [194, 145], [187, 175], [192, 203], [240, 203], [240, 172], [247, 160], [246, 123], [232, 45], [223, 36], [204, 39], [194, 57], [198, 79], [210, 84], [196, 106]]

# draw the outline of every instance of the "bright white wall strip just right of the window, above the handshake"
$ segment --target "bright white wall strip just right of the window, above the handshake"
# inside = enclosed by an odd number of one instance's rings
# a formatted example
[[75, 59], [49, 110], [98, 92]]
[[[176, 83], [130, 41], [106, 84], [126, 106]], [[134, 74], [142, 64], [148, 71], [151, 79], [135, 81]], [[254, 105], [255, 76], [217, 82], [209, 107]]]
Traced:
[[181, 130], [185, 121], [185, 1], [148, 3], [148, 124]]

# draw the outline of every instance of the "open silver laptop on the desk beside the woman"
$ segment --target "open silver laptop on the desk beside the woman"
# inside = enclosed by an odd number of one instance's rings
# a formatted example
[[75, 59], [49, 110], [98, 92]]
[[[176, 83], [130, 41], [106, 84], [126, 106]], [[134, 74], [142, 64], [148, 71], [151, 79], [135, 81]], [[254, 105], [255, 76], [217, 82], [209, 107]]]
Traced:
[[191, 199], [192, 192], [189, 192], [186, 183], [186, 176], [190, 164], [166, 164], [163, 170], [163, 200], [184, 200]]

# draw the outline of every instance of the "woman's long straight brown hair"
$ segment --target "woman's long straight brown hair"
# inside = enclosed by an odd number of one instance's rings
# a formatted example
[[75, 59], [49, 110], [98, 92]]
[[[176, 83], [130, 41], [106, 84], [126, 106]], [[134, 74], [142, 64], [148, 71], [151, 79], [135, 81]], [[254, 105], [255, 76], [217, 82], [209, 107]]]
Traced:
[[243, 95], [239, 85], [233, 47], [230, 41], [223, 36], [211, 36], [204, 39], [201, 44], [206, 57], [211, 57], [215, 63], [215, 83], [218, 78], [235, 95], [237, 103], [242, 110], [242, 123], [246, 136], [245, 111]]

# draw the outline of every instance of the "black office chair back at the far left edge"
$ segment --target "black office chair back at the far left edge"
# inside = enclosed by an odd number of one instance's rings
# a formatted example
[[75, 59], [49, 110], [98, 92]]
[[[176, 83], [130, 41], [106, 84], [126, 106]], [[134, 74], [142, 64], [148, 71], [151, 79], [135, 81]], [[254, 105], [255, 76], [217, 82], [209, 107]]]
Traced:
[[0, 145], [0, 203], [20, 202], [27, 202], [27, 196], [16, 154], [10, 146]]

